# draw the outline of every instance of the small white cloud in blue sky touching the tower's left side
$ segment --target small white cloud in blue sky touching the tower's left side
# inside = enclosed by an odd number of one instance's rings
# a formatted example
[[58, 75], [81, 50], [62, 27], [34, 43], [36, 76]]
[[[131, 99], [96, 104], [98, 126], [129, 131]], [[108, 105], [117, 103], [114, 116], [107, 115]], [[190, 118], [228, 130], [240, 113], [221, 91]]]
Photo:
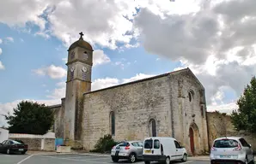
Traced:
[[33, 70], [34, 73], [40, 75], [40, 76], [45, 76], [48, 75], [52, 79], [61, 79], [66, 76], [66, 70], [63, 67], [58, 67], [51, 65], [49, 67], [42, 67], [39, 69]]

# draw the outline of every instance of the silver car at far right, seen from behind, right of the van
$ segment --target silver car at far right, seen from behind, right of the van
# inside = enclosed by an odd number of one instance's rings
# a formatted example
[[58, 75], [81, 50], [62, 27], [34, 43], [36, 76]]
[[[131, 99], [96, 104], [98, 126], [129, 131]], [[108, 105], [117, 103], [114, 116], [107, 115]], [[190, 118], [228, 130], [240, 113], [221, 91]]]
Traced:
[[254, 163], [251, 144], [241, 137], [216, 138], [210, 149], [210, 163]]

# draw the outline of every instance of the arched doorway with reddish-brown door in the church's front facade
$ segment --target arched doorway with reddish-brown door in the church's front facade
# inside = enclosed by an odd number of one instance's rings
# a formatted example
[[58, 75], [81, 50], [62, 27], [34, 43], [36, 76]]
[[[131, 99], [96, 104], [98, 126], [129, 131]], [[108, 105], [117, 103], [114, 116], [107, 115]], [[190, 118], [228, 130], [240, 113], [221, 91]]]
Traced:
[[200, 135], [198, 126], [193, 122], [189, 127], [190, 150], [192, 155], [197, 155], [200, 151]]

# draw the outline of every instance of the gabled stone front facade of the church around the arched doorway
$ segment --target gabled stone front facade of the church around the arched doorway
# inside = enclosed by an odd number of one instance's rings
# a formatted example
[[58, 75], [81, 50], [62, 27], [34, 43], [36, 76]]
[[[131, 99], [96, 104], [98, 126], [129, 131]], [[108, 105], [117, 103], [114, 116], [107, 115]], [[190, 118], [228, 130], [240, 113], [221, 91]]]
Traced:
[[[194, 153], [202, 155], [209, 151], [204, 86], [190, 71], [173, 74], [170, 85], [172, 86], [174, 138], [186, 147], [189, 155], [192, 155], [189, 133], [189, 129], [192, 127]], [[192, 93], [192, 101], [189, 100], [189, 92]]]

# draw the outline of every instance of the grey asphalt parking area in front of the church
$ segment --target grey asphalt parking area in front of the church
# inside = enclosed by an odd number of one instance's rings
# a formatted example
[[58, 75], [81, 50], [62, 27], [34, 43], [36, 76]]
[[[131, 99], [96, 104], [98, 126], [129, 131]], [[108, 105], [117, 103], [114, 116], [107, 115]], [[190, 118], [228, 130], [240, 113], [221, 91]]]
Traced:
[[[113, 163], [110, 156], [106, 155], [3, 155], [0, 154], [1, 164], [109, 164]], [[117, 164], [129, 163], [126, 160], [117, 162]], [[137, 161], [136, 164], [143, 164], [143, 161]], [[209, 161], [186, 161], [174, 162], [190, 164], [208, 164]]]

